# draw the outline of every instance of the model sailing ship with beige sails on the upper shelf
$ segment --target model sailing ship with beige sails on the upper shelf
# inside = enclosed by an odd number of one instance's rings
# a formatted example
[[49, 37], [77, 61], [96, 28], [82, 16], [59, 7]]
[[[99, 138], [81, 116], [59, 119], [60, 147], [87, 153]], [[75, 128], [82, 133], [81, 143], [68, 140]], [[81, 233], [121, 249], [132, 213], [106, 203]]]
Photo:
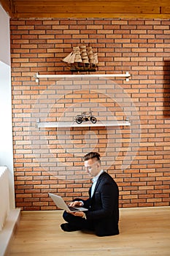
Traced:
[[69, 64], [72, 72], [94, 72], [98, 67], [98, 54], [93, 53], [93, 48], [83, 44], [73, 47], [72, 53], [69, 53], [62, 61]]

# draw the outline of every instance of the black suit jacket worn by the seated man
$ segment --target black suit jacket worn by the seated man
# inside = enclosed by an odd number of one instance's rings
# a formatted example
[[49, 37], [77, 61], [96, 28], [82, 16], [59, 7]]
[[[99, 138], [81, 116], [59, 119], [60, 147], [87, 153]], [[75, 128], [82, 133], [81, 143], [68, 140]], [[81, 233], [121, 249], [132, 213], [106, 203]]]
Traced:
[[83, 200], [87, 220], [93, 223], [97, 236], [114, 236], [119, 233], [119, 190], [114, 179], [104, 172], [98, 177], [93, 196]]

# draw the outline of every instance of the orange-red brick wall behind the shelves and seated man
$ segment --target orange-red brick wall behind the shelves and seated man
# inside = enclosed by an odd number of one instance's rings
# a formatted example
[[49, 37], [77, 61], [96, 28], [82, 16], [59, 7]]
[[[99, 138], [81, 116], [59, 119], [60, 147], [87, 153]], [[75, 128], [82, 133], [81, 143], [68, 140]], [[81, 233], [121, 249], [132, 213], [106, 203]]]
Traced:
[[[55, 209], [48, 192], [87, 197], [82, 156], [101, 154], [120, 188], [120, 207], [169, 206], [170, 20], [11, 20], [12, 115], [16, 206]], [[129, 72], [116, 80], [39, 80], [69, 74], [61, 59], [90, 42], [98, 73]], [[72, 121], [93, 109], [99, 120], [131, 127], [37, 128], [40, 121]]]

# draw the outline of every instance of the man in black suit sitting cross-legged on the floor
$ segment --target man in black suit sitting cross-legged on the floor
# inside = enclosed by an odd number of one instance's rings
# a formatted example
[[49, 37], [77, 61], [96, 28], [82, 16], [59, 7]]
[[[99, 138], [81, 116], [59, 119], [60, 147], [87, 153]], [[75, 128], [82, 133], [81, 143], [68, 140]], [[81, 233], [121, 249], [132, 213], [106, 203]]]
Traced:
[[116, 182], [101, 168], [100, 154], [90, 152], [85, 155], [85, 169], [93, 177], [88, 200], [76, 199], [69, 206], [83, 206], [85, 212], [72, 214], [64, 211], [61, 224], [64, 231], [91, 230], [96, 236], [114, 236], [119, 233], [119, 190]]

